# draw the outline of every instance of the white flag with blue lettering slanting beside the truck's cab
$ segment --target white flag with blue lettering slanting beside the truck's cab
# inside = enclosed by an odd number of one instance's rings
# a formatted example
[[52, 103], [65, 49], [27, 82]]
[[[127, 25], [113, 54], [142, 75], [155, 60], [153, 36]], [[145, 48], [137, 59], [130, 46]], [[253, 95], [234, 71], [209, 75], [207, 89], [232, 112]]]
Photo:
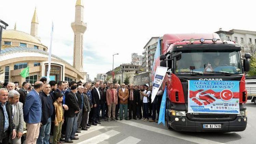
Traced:
[[151, 94], [152, 102], [154, 101], [154, 99], [156, 97], [156, 93], [159, 90], [159, 88], [163, 82], [163, 78], [165, 78], [167, 69], [168, 69], [167, 67], [159, 67], [159, 66], [157, 66], [157, 68], [156, 68], [156, 73], [154, 76], [154, 82], [153, 82], [153, 86], [152, 86], [152, 94]]

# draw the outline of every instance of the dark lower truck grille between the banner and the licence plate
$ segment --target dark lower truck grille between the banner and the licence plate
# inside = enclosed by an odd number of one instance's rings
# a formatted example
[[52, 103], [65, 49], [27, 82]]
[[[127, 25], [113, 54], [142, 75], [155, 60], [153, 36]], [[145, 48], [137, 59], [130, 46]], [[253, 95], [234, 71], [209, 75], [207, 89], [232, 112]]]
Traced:
[[189, 120], [194, 121], [231, 121], [236, 118], [236, 114], [210, 114], [210, 113], [199, 113], [199, 114], [187, 114]]

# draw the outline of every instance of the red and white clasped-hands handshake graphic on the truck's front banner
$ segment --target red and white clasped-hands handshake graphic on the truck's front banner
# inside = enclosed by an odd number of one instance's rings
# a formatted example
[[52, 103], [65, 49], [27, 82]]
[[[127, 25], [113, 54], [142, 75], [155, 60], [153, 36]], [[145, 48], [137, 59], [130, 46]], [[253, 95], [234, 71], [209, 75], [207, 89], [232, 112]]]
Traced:
[[216, 101], [217, 99], [221, 99], [220, 92], [215, 92], [211, 89], [209, 90], [197, 90], [197, 91], [189, 91], [189, 98], [192, 99], [198, 105], [208, 105]]

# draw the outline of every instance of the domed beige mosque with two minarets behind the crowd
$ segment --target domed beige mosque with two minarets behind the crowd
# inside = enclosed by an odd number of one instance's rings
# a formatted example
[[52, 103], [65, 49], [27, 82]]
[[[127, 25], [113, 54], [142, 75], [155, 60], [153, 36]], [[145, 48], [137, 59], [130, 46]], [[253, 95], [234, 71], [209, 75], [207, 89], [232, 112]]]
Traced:
[[[50, 78], [55, 81], [82, 81], [86, 82], [87, 73], [83, 69], [83, 35], [87, 25], [83, 22], [83, 0], [75, 4], [75, 21], [71, 23], [74, 31], [73, 65], [52, 54]], [[0, 53], [0, 82], [34, 83], [46, 77], [48, 70], [48, 47], [41, 43], [38, 37], [37, 11], [31, 21], [30, 34], [14, 29], [2, 32]], [[58, 47], [53, 47], [58, 48]], [[20, 72], [29, 66], [29, 76], [22, 77]]]

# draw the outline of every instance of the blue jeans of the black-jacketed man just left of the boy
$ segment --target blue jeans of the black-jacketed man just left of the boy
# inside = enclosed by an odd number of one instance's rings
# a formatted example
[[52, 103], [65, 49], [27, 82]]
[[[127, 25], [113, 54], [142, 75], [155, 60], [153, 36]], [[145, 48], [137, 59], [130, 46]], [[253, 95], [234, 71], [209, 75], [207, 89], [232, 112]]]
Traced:
[[37, 144], [49, 144], [52, 118], [49, 117], [47, 123], [40, 127]]

